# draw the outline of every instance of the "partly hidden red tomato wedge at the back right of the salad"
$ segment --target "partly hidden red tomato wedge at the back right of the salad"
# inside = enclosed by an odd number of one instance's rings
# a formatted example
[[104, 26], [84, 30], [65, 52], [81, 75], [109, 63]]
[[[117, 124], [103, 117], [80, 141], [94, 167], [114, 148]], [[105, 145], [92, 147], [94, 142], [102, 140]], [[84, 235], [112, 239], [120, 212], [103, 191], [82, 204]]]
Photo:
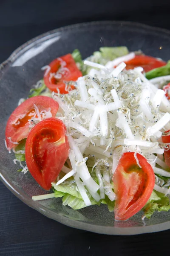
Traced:
[[125, 64], [127, 70], [140, 66], [143, 67], [145, 72], [148, 72], [156, 67], [165, 66], [167, 63], [151, 56], [136, 55], [135, 58], [130, 61], [126, 61]]

